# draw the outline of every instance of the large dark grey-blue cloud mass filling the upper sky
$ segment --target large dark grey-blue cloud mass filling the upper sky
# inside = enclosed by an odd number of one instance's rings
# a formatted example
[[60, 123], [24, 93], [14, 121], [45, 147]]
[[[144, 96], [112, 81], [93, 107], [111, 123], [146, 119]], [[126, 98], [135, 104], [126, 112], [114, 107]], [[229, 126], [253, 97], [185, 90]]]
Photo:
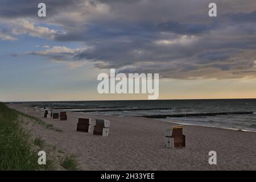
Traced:
[[[45, 21], [65, 32], [52, 34], [53, 40], [92, 48], [70, 49], [68, 55], [66, 48], [32, 55], [90, 60], [100, 69], [153, 72], [168, 78], [256, 76], [254, 0], [44, 2], [48, 12], [44, 20], [35, 17], [39, 1], [1, 1], [0, 17]], [[208, 16], [210, 2], [217, 3], [216, 18]]]

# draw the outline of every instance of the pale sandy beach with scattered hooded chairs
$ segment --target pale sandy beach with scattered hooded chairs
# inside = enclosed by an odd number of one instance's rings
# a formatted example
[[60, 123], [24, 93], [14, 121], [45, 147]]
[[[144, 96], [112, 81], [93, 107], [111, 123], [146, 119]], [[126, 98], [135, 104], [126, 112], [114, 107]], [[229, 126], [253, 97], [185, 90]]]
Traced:
[[[23, 105], [9, 105], [23, 111]], [[68, 112], [68, 120], [28, 114], [61, 129], [59, 133], [38, 124], [28, 125], [32, 135], [42, 137], [59, 150], [77, 156], [83, 170], [256, 170], [256, 133], [214, 127], [184, 126], [186, 147], [164, 147], [164, 131], [174, 123], [141, 117], [114, 117]], [[110, 121], [109, 137], [76, 131], [78, 117]], [[217, 165], [208, 163], [209, 151], [217, 152]]]

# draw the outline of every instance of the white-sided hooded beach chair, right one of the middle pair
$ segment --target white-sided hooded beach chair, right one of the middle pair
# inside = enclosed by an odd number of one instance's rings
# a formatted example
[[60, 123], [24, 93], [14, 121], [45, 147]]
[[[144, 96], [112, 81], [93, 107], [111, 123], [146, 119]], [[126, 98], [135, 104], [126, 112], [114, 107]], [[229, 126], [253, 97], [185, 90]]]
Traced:
[[93, 127], [93, 135], [109, 137], [110, 121], [107, 119], [96, 118], [96, 125]]

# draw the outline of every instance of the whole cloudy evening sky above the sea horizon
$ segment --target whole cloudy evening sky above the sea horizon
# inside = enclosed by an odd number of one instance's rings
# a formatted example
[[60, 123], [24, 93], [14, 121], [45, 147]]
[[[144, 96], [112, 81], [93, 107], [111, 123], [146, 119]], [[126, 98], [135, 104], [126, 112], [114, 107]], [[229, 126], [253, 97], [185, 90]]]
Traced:
[[256, 1], [0, 1], [0, 101], [148, 98], [99, 94], [111, 68], [159, 73], [158, 99], [256, 98]]

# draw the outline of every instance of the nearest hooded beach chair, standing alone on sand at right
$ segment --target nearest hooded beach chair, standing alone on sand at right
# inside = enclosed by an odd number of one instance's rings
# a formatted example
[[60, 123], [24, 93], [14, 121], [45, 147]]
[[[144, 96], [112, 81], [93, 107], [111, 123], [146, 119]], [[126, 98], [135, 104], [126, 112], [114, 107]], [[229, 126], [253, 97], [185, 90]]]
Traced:
[[183, 148], [185, 147], [185, 135], [183, 135], [183, 126], [172, 126], [166, 129], [166, 147]]

